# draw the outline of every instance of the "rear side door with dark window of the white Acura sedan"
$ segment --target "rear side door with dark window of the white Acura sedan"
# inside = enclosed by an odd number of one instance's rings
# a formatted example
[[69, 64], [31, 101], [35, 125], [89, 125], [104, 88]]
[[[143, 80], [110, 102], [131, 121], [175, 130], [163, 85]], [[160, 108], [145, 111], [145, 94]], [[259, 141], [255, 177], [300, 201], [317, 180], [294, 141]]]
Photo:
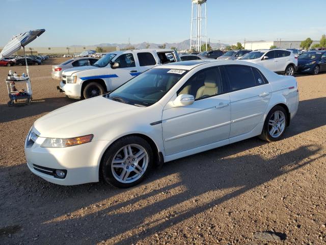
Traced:
[[271, 87], [255, 67], [224, 66], [230, 84], [230, 138], [251, 132], [261, 121], [270, 100]]

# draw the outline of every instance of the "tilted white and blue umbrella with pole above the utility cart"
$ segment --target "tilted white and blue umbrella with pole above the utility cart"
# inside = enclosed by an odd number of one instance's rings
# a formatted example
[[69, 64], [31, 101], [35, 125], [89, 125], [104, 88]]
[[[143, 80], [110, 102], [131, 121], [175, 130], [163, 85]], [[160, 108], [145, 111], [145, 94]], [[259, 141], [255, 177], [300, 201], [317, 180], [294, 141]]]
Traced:
[[38, 29], [38, 30], [32, 30], [25, 33], [21, 33], [17, 36], [14, 36], [4, 47], [4, 49], [0, 53], [0, 60], [4, 59], [5, 57], [11, 56], [18, 50], [20, 50], [21, 47], [24, 49], [24, 56], [25, 56], [25, 63], [26, 63], [26, 71], [27, 75], [29, 76], [29, 66], [27, 64], [27, 59], [25, 55], [25, 46], [32, 42], [35, 38], [39, 37], [43, 32], [45, 32], [45, 29]]

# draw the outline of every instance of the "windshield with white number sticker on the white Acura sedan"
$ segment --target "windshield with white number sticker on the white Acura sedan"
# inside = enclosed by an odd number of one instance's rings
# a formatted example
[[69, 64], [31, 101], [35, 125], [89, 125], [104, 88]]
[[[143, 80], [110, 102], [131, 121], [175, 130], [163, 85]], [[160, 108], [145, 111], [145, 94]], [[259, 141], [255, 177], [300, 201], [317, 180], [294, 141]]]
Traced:
[[104, 96], [107, 99], [135, 106], [151, 106], [159, 101], [186, 73], [186, 70], [180, 69], [149, 69]]

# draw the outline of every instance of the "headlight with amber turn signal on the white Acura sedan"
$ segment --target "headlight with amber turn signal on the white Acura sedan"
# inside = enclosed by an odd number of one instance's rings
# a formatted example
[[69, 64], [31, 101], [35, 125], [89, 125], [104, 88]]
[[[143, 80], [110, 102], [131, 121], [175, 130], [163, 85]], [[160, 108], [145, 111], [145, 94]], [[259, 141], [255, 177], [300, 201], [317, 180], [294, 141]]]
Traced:
[[41, 144], [41, 147], [44, 148], [63, 148], [63, 147], [69, 147], [74, 146], [78, 144], [85, 144], [88, 142], [91, 142], [93, 139], [93, 134], [80, 136], [80, 137], [74, 137], [74, 138], [65, 138], [65, 139], [59, 139], [59, 138], [45, 138], [44, 142]]

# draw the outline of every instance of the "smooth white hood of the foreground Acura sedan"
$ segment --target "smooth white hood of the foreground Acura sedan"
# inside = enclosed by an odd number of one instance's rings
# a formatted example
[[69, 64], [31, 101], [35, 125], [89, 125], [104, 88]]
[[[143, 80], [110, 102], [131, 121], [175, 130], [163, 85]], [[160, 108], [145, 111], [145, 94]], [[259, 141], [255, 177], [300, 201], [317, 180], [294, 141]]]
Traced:
[[[34, 122], [36, 133], [41, 137], [71, 138], [94, 134], [95, 130], [110, 127], [119, 119], [137, 113], [137, 107], [97, 96], [52, 111]], [[94, 137], [94, 139], [96, 139]], [[98, 139], [98, 138], [97, 138]]]

